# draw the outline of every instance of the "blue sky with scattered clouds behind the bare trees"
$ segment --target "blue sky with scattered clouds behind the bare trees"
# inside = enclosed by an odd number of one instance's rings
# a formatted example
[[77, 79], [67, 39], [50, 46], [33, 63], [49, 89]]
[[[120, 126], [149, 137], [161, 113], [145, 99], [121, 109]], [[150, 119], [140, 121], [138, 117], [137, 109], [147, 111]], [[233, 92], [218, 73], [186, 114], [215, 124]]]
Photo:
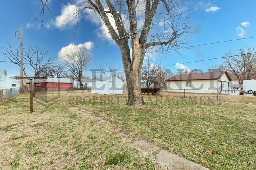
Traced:
[[[187, 9], [193, 8], [206, 1], [186, 1]], [[50, 9], [52, 10], [52, 20], [46, 15], [45, 30], [40, 28], [40, 20], [35, 21], [35, 16], [40, 13], [40, 4], [36, 0], [11, 0], [0, 2], [0, 47], [6, 47], [8, 42], [15, 46], [20, 40], [15, 38], [15, 31], [20, 31], [20, 24], [23, 24], [24, 44], [40, 44], [48, 50], [47, 57], [52, 58], [52, 63], [58, 64], [58, 53], [63, 47], [69, 44], [85, 44], [85, 48], [92, 48], [105, 44], [111, 39], [102, 37], [104, 27], [99, 18], [86, 13], [79, 21], [79, 27], [74, 36], [72, 24], [69, 24], [64, 13], [72, 10], [72, 1], [51, 0]], [[256, 36], [256, 1], [255, 0], [214, 0], [210, 4], [201, 6], [191, 11], [190, 21], [195, 26], [188, 35], [187, 41], [190, 46], [233, 40], [238, 38]], [[41, 19], [41, 18], [40, 18]], [[89, 43], [88, 43], [89, 42]], [[222, 57], [224, 52], [231, 49], [237, 52], [242, 46], [251, 45], [255, 47], [256, 39], [238, 40], [213, 44], [208, 46], [195, 47], [189, 50], [180, 50], [181, 55], [174, 51], [166, 57], [161, 58], [162, 65], [184, 63], [195, 60]], [[113, 65], [121, 65], [122, 59], [118, 46], [110, 43], [96, 49], [90, 50], [94, 60], [89, 63], [88, 69], [96, 68], [100, 62], [108, 62]], [[148, 56], [147, 56], [148, 57]], [[151, 62], [157, 62], [160, 57], [153, 54], [149, 57]], [[0, 61], [8, 61], [5, 56], [0, 54]], [[176, 71], [177, 68], [187, 67], [189, 69], [202, 69], [211, 65], [221, 64], [221, 60], [210, 60], [206, 62], [196, 62], [191, 64], [179, 65], [180, 67], [167, 66], [166, 69]], [[9, 76], [14, 76], [14, 66], [12, 63], [0, 62], [0, 69], [6, 69]], [[26, 65], [26, 70], [30, 68]], [[84, 71], [89, 73], [90, 71]], [[16, 65], [16, 75], [20, 74], [20, 68]]]

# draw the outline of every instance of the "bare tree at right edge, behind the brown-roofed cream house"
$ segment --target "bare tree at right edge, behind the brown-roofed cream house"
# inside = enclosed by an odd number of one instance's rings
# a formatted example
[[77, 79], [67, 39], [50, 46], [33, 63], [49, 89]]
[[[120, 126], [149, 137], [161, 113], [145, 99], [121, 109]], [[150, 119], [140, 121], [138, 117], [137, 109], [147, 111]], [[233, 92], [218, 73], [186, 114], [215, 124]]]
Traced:
[[234, 55], [231, 50], [226, 52], [224, 56], [224, 66], [226, 70], [235, 75], [239, 84], [243, 84], [243, 80], [249, 80], [250, 77], [256, 75], [256, 53], [255, 48], [248, 46], [247, 49], [240, 48], [239, 56]]

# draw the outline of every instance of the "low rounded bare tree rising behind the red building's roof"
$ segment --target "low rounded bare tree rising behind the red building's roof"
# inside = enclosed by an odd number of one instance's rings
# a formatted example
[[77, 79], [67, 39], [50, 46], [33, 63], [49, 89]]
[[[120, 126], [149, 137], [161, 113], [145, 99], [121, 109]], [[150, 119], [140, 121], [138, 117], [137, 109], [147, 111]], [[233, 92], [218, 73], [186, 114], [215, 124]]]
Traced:
[[40, 77], [67, 78], [69, 77], [69, 73], [62, 65], [59, 64], [56, 66], [46, 66]]

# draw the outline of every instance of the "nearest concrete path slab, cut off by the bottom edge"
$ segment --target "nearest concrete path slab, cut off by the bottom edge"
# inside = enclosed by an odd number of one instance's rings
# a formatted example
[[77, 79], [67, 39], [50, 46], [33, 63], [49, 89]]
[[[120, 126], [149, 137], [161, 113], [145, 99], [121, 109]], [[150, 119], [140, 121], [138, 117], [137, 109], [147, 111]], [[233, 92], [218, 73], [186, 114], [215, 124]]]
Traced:
[[161, 150], [156, 155], [156, 161], [164, 167], [167, 166], [170, 170], [210, 170], [167, 150]]

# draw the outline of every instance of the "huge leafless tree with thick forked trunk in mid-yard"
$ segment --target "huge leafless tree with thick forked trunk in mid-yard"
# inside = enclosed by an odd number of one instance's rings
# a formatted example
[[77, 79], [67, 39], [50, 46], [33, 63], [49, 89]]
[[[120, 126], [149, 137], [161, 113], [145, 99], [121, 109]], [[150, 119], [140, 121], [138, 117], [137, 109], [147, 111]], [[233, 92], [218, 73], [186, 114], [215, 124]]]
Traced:
[[179, 14], [185, 11], [185, 6], [178, 0], [86, 0], [76, 7], [77, 13], [73, 15], [76, 23], [83, 11], [94, 10], [119, 46], [127, 81], [127, 104], [145, 104], [140, 88], [145, 53], [168, 52], [184, 46], [190, 30], [189, 16]]

